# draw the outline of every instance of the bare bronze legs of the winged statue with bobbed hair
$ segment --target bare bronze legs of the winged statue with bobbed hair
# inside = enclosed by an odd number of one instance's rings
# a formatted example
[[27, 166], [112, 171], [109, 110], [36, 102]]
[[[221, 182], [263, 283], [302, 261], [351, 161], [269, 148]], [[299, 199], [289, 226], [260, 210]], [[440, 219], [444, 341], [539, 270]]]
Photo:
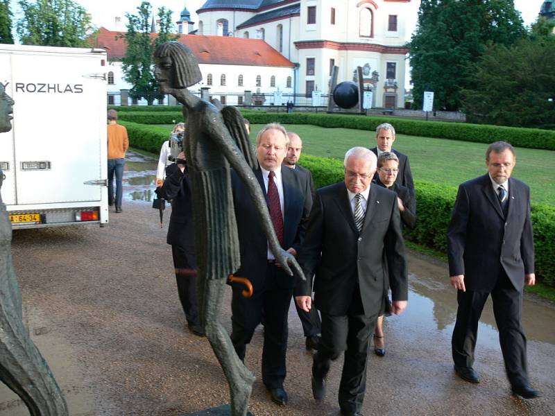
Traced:
[[231, 414], [245, 416], [255, 376], [239, 360], [228, 331], [219, 322], [224, 288], [225, 279], [198, 279], [200, 320], [230, 386]]

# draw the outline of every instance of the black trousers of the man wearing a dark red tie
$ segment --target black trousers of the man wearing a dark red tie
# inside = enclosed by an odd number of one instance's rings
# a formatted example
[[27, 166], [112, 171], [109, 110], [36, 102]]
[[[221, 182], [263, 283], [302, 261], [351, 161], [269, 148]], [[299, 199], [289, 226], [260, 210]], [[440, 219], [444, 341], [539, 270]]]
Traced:
[[231, 300], [231, 340], [242, 361], [246, 345], [253, 338], [264, 313], [262, 382], [267, 388], [282, 388], [287, 373], [287, 317], [293, 288], [280, 288], [277, 284], [280, 277], [284, 277], [283, 270], [268, 263], [263, 290], [255, 291], [252, 297], [243, 297], [242, 288], [234, 286]]

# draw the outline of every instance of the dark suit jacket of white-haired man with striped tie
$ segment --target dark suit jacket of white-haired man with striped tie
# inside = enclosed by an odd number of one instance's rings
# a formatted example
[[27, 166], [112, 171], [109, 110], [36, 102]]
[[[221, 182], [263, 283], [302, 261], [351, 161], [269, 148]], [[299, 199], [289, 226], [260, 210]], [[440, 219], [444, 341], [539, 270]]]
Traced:
[[407, 300], [407, 261], [397, 195], [370, 187], [359, 234], [345, 184], [318, 189], [298, 261], [307, 281], [298, 281], [295, 295], [310, 295], [311, 276], [316, 272], [314, 303], [322, 313], [346, 315], [357, 282], [368, 317], [382, 309], [388, 286], [393, 300]]

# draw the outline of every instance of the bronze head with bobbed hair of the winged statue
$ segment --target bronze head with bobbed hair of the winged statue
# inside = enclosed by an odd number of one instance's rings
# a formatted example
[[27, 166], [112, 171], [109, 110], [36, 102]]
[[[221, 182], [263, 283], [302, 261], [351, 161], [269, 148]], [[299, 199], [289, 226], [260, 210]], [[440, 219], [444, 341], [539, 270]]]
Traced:
[[203, 79], [196, 56], [180, 42], [165, 42], [158, 46], [154, 60], [154, 74], [162, 92], [167, 88], [190, 87]]

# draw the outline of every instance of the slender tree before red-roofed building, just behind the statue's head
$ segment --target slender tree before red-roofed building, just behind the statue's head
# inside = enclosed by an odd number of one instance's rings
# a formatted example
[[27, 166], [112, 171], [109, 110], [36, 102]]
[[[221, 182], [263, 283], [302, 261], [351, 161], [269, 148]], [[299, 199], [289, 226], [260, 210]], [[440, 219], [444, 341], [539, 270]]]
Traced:
[[155, 99], [164, 98], [158, 92], [158, 83], [153, 71], [153, 53], [159, 44], [176, 40], [177, 35], [172, 35], [171, 10], [164, 7], [158, 9], [160, 28], [157, 35], [151, 34], [152, 6], [148, 1], [143, 1], [137, 7], [137, 15], [126, 13], [128, 19], [127, 33], [122, 35], [127, 42], [126, 55], [123, 58], [124, 79], [133, 85], [129, 91], [131, 98], [144, 98], [148, 105]]

